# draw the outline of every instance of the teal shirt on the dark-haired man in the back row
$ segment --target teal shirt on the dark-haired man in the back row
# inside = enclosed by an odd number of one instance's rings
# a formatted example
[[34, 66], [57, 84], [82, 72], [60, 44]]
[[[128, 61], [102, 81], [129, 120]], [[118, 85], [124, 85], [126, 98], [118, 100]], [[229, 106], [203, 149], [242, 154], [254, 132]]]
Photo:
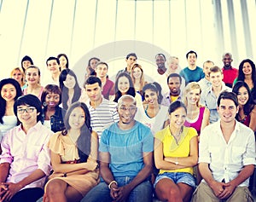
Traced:
[[187, 66], [182, 71], [180, 71], [179, 74], [181, 77], [185, 78], [186, 84], [189, 84], [193, 81], [198, 82], [201, 80], [201, 78], [205, 78], [205, 73], [199, 66], [196, 66], [195, 70], [190, 70]]

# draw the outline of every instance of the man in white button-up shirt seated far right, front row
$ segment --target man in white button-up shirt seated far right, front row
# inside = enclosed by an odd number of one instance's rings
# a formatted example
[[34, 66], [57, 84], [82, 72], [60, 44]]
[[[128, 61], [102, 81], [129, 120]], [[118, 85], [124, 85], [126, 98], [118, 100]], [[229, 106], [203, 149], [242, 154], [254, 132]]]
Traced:
[[253, 201], [247, 188], [255, 165], [253, 130], [237, 122], [237, 97], [223, 92], [218, 97], [220, 120], [202, 130], [199, 170], [203, 180], [195, 201]]

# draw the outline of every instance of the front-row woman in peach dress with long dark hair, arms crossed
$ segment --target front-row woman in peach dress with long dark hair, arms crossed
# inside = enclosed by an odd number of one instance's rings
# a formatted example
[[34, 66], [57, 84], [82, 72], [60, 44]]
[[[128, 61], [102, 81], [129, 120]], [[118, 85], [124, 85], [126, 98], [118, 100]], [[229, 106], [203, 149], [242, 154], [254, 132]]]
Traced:
[[80, 201], [99, 182], [98, 136], [90, 127], [90, 113], [83, 102], [67, 110], [66, 130], [49, 140], [54, 173], [44, 188], [44, 202]]

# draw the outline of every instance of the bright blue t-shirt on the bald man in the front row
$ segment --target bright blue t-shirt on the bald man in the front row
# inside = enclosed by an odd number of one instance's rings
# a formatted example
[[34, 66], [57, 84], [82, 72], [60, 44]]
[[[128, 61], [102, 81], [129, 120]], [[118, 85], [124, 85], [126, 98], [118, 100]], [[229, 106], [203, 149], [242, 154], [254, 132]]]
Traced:
[[109, 153], [114, 177], [137, 176], [143, 169], [143, 153], [153, 151], [154, 137], [150, 129], [137, 122], [130, 130], [120, 130], [118, 123], [102, 132], [99, 151]]

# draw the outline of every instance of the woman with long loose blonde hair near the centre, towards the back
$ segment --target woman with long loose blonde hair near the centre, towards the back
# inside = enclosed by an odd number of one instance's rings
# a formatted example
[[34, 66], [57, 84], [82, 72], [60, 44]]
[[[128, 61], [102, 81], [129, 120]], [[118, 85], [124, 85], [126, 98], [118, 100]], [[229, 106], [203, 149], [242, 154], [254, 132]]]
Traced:
[[143, 87], [147, 82], [145, 82], [143, 67], [141, 65], [135, 63], [131, 66], [131, 80], [136, 92], [143, 95]]

